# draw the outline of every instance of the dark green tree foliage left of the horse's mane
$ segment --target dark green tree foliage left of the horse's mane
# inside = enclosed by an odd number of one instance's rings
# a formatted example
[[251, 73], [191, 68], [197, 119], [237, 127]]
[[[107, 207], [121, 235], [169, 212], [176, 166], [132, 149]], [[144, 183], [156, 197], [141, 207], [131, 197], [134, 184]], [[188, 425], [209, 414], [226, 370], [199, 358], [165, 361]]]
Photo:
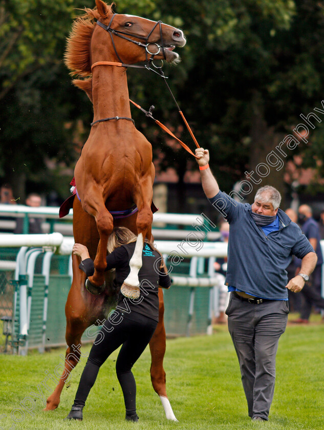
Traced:
[[71, 121], [82, 117], [75, 102], [85, 97], [72, 99], [62, 64], [74, 6], [73, 0], [0, 2], [0, 176], [22, 202], [27, 180], [39, 175], [38, 182], [47, 182], [46, 159], [75, 158]]

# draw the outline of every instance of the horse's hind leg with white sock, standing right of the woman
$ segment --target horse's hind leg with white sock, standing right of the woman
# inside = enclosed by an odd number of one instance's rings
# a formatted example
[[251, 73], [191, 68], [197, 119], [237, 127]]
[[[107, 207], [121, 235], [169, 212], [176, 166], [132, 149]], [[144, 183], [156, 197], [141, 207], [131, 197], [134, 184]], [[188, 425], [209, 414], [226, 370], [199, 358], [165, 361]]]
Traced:
[[150, 367], [151, 381], [155, 392], [160, 396], [164, 407], [165, 416], [168, 420], [178, 421], [175, 417], [169, 399], [166, 395], [166, 379], [163, 369], [163, 358], [165, 354], [165, 328], [163, 322], [164, 302], [163, 292], [159, 289], [159, 323], [149, 342], [149, 349], [152, 356]]

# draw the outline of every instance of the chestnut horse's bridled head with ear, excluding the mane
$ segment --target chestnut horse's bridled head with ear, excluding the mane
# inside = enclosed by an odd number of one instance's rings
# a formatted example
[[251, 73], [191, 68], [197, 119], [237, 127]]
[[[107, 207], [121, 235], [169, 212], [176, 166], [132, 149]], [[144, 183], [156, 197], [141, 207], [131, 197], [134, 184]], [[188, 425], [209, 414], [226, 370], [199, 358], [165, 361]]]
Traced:
[[[92, 37], [93, 59], [133, 64], [150, 58], [176, 62], [176, 46], [186, 44], [183, 32], [175, 27], [133, 15], [114, 14], [111, 6], [96, 0], [99, 18]], [[103, 58], [109, 48], [110, 56]]]

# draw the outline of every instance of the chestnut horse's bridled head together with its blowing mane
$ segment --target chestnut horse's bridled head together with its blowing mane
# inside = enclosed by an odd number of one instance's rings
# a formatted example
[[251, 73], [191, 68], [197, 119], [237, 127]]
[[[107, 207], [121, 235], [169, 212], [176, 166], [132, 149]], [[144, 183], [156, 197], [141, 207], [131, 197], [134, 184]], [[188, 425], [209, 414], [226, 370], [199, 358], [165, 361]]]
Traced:
[[[68, 37], [64, 61], [72, 75], [89, 77], [96, 61], [133, 64], [152, 55], [168, 62], [179, 61], [173, 50], [186, 44], [181, 30], [138, 16], [114, 14], [113, 4], [108, 6], [101, 0], [96, 0], [96, 5], [76, 18]], [[73, 83], [92, 101], [92, 78], [74, 79]]]

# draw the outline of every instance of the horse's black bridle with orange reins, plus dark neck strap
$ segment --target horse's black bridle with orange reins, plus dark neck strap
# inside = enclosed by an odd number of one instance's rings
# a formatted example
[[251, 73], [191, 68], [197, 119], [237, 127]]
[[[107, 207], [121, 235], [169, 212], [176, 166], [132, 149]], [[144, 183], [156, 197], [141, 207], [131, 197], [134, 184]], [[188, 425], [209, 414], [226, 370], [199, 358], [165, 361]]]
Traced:
[[[198, 144], [195, 136], [193, 135], [193, 133], [191, 131], [191, 128], [190, 128], [189, 124], [187, 123], [187, 120], [185, 119], [183, 113], [181, 112], [181, 109], [180, 109], [180, 107], [179, 107], [179, 105], [177, 103], [177, 100], [175, 99], [175, 97], [172, 94], [172, 91], [171, 91], [169, 85], [166, 82], [167, 77], [164, 75], [164, 73], [162, 71], [163, 61], [161, 60], [162, 66], [160, 66], [160, 67], [155, 66], [154, 63], [153, 63], [154, 57], [160, 53], [161, 49], [162, 49], [163, 57], [164, 57], [164, 59], [166, 59], [166, 57], [165, 57], [165, 48], [164, 48], [164, 45], [163, 45], [163, 37], [162, 37], [162, 26], [161, 26], [161, 24], [163, 24], [162, 21], [157, 21], [156, 24], [154, 25], [153, 29], [145, 37], [145, 36], [138, 36], [136, 34], [127, 33], [127, 32], [124, 32], [124, 31], [112, 29], [111, 25], [113, 23], [113, 19], [114, 19], [115, 15], [116, 15], [116, 13], [113, 14], [113, 16], [111, 17], [111, 20], [110, 20], [110, 22], [109, 22], [109, 24], [107, 26], [105, 26], [104, 24], [102, 24], [100, 21], [97, 21], [97, 25], [100, 26], [101, 28], [103, 28], [105, 31], [109, 32], [109, 34], [111, 36], [111, 39], [112, 39], [112, 44], [113, 44], [113, 47], [114, 47], [114, 50], [115, 50], [115, 54], [116, 54], [116, 56], [117, 56], [117, 58], [119, 59], [120, 62], [118, 63], [118, 62], [115, 62], [115, 61], [97, 61], [97, 62], [93, 63], [93, 65], [91, 66], [91, 71], [96, 66], [105, 65], [105, 66], [134, 67], [134, 68], [139, 68], [139, 69], [148, 69], [148, 70], [150, 70], [152, 72], [157, 73], [159, 76], [161, 76], [164, 79], [164, 82], [165, 82], [165, 84], [166, 84], [166, 86], [167, 86], [167, 88], [168, 88], [168, 90], [169, 90], [172, 98], [174, 99], [174, 101], [175, 101], [175, 103], [176, 103], [176, 105], [178, 107], [178, 111], [179, 111], [179, 113], [180, 113], [180, 115], [181, 115], [181, 117], [182, 117], [182, 119], [183, 119], [183, 121], [184, 121], [184, 123], [185, 123], [185, 125], [187, 127], [187, 130], [189, 131], [189, 133], [190, 133], [190, 135], [192, 137], [192, 140], [195, 142], [196, 146], [199, 148], [200, 146], [199, 146], [199, 144]], [[148, 42], [149, 36], [154, 32], [154, 30], [156, 29], [156, 27], [158, 25], [159, 25], [159, 29], [160, 29], [161, 45], [158, 45], [158, 44], [152, 43], [152, 42]], [[145, 65], [141, 66], [141, 65], [133, 65], [133, 64], [125, 64], [125, 63], [123, 63], [122, 60], [120, 59], [120, 56], [118, 55], [113, 35], [121, 37], [122, 39], [128, 40], [129, 42], [132, 42], [133, 44], [136, 44], [137, 46], [141, 46], [141, 47], [145, 48]], [[142, 43], [141, 41], [138, 41], [138, 40], [131, 39], [131, 38], [126, 37], [126, 36], [132, 36], [132, 37], [135, 37], [136, 39], [144, 40], [145, 43]], [[155, 45], [155, 46], [157, 46], [158, 49], [159, 49], [158, 52], [155, 52], [155, 53], [150, 52], [149, 49], [148, 49], [149, 45]], [[150, 55], [150, 58], [148, 58], [148, 54]], [[156, 70], [152, 69], [151, 66], [153, 66]], [[152, 118], [166, 133], [168, 133], [171, 137], [173, 137], [174, 139], [176, 139], [181, 144], [181, 146], [184, 149], [187, 150], [188, 153], [190, 153], [191, 155], [193, 155], [193, 157], [198, 158], [195, 154], [193, 154], [193, 152], [191, 151], [191, 149], [185, 143], [183, 143], [180, 139], [178, 139], [165, 125], [163, 125], [160, 121], [156, 120], [153, 117], [152, 112], [154, 110], [154, 106], [151, 106], [148, 111], [145, 111], [140, 105], [138, 105], [137, 103], [134, 103], [134, 101], [132, 101], [132, 100], [129, 100], [129, 101], [131, 101], [136, 107], [138, 107], [138, 109], [140, 109], [143, 113], [145, 113], [145, 115], [147, 117]], [[132, 118], [118, 117], [118, 116], [116, 116], [116, 117], [111, 117], [111, 118], [98, 119], [97, 121], [92, 122], [91, 126], [94, 125], [94, 124], [96, 124], [97, 122], [109, 121], [109, 120], [113, 120], [113, 119], [115, 119], [115, 120], [126, 119], [127, 121], [132, 121], [135, 124], [135, 122], [134, 122], [134, 120]]]

